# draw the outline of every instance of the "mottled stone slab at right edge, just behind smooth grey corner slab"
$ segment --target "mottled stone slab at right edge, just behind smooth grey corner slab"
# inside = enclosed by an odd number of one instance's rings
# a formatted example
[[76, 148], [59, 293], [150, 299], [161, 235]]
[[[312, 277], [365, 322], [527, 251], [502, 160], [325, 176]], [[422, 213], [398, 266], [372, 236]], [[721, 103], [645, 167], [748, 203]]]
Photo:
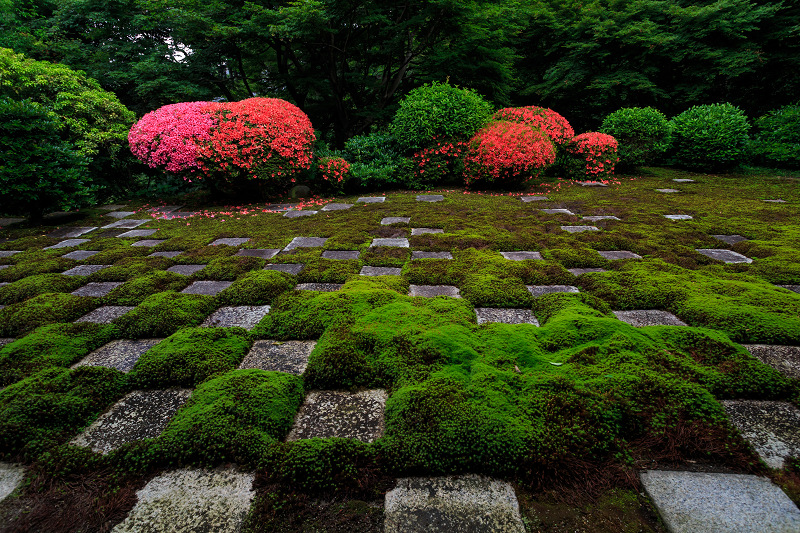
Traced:
[[[728, 418], [770, 468], [800, 456], [800, 411], [788, 402], [722, 400]], [[800, 531], [800, 530], [798, 530]]]

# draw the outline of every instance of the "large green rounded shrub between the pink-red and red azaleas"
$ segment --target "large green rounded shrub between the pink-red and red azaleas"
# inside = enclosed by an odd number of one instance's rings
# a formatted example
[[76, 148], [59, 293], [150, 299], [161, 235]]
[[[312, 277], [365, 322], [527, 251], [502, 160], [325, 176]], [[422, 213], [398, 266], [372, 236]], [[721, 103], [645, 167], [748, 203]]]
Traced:
[[491, 113], [489, 102], [475, 91], [434, 82], [406, 95], [389, 131], [401, 148], [413, 152], [437, 139], [467, 140]]

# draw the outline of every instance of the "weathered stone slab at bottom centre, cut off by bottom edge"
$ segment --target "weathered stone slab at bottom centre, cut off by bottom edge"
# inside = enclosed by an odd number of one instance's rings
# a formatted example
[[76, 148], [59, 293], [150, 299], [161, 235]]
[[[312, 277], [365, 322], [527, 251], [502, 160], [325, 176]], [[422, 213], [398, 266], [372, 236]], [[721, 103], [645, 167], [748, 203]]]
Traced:
[[511, 485], [474, 474], [398, 479], [384, 516], [384, 533], [526, 531]]

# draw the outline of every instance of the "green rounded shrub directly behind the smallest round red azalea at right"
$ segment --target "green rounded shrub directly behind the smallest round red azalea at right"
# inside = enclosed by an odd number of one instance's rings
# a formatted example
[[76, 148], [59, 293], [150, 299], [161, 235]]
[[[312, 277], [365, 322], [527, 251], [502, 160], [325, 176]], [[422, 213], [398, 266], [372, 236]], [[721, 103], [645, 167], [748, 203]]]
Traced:
[[669, 120], [652, 107], [618, 109], [603, 119], [600, 132], [617, 139], [620, 165], [628, 168], [656, 163], [672, 139]]

